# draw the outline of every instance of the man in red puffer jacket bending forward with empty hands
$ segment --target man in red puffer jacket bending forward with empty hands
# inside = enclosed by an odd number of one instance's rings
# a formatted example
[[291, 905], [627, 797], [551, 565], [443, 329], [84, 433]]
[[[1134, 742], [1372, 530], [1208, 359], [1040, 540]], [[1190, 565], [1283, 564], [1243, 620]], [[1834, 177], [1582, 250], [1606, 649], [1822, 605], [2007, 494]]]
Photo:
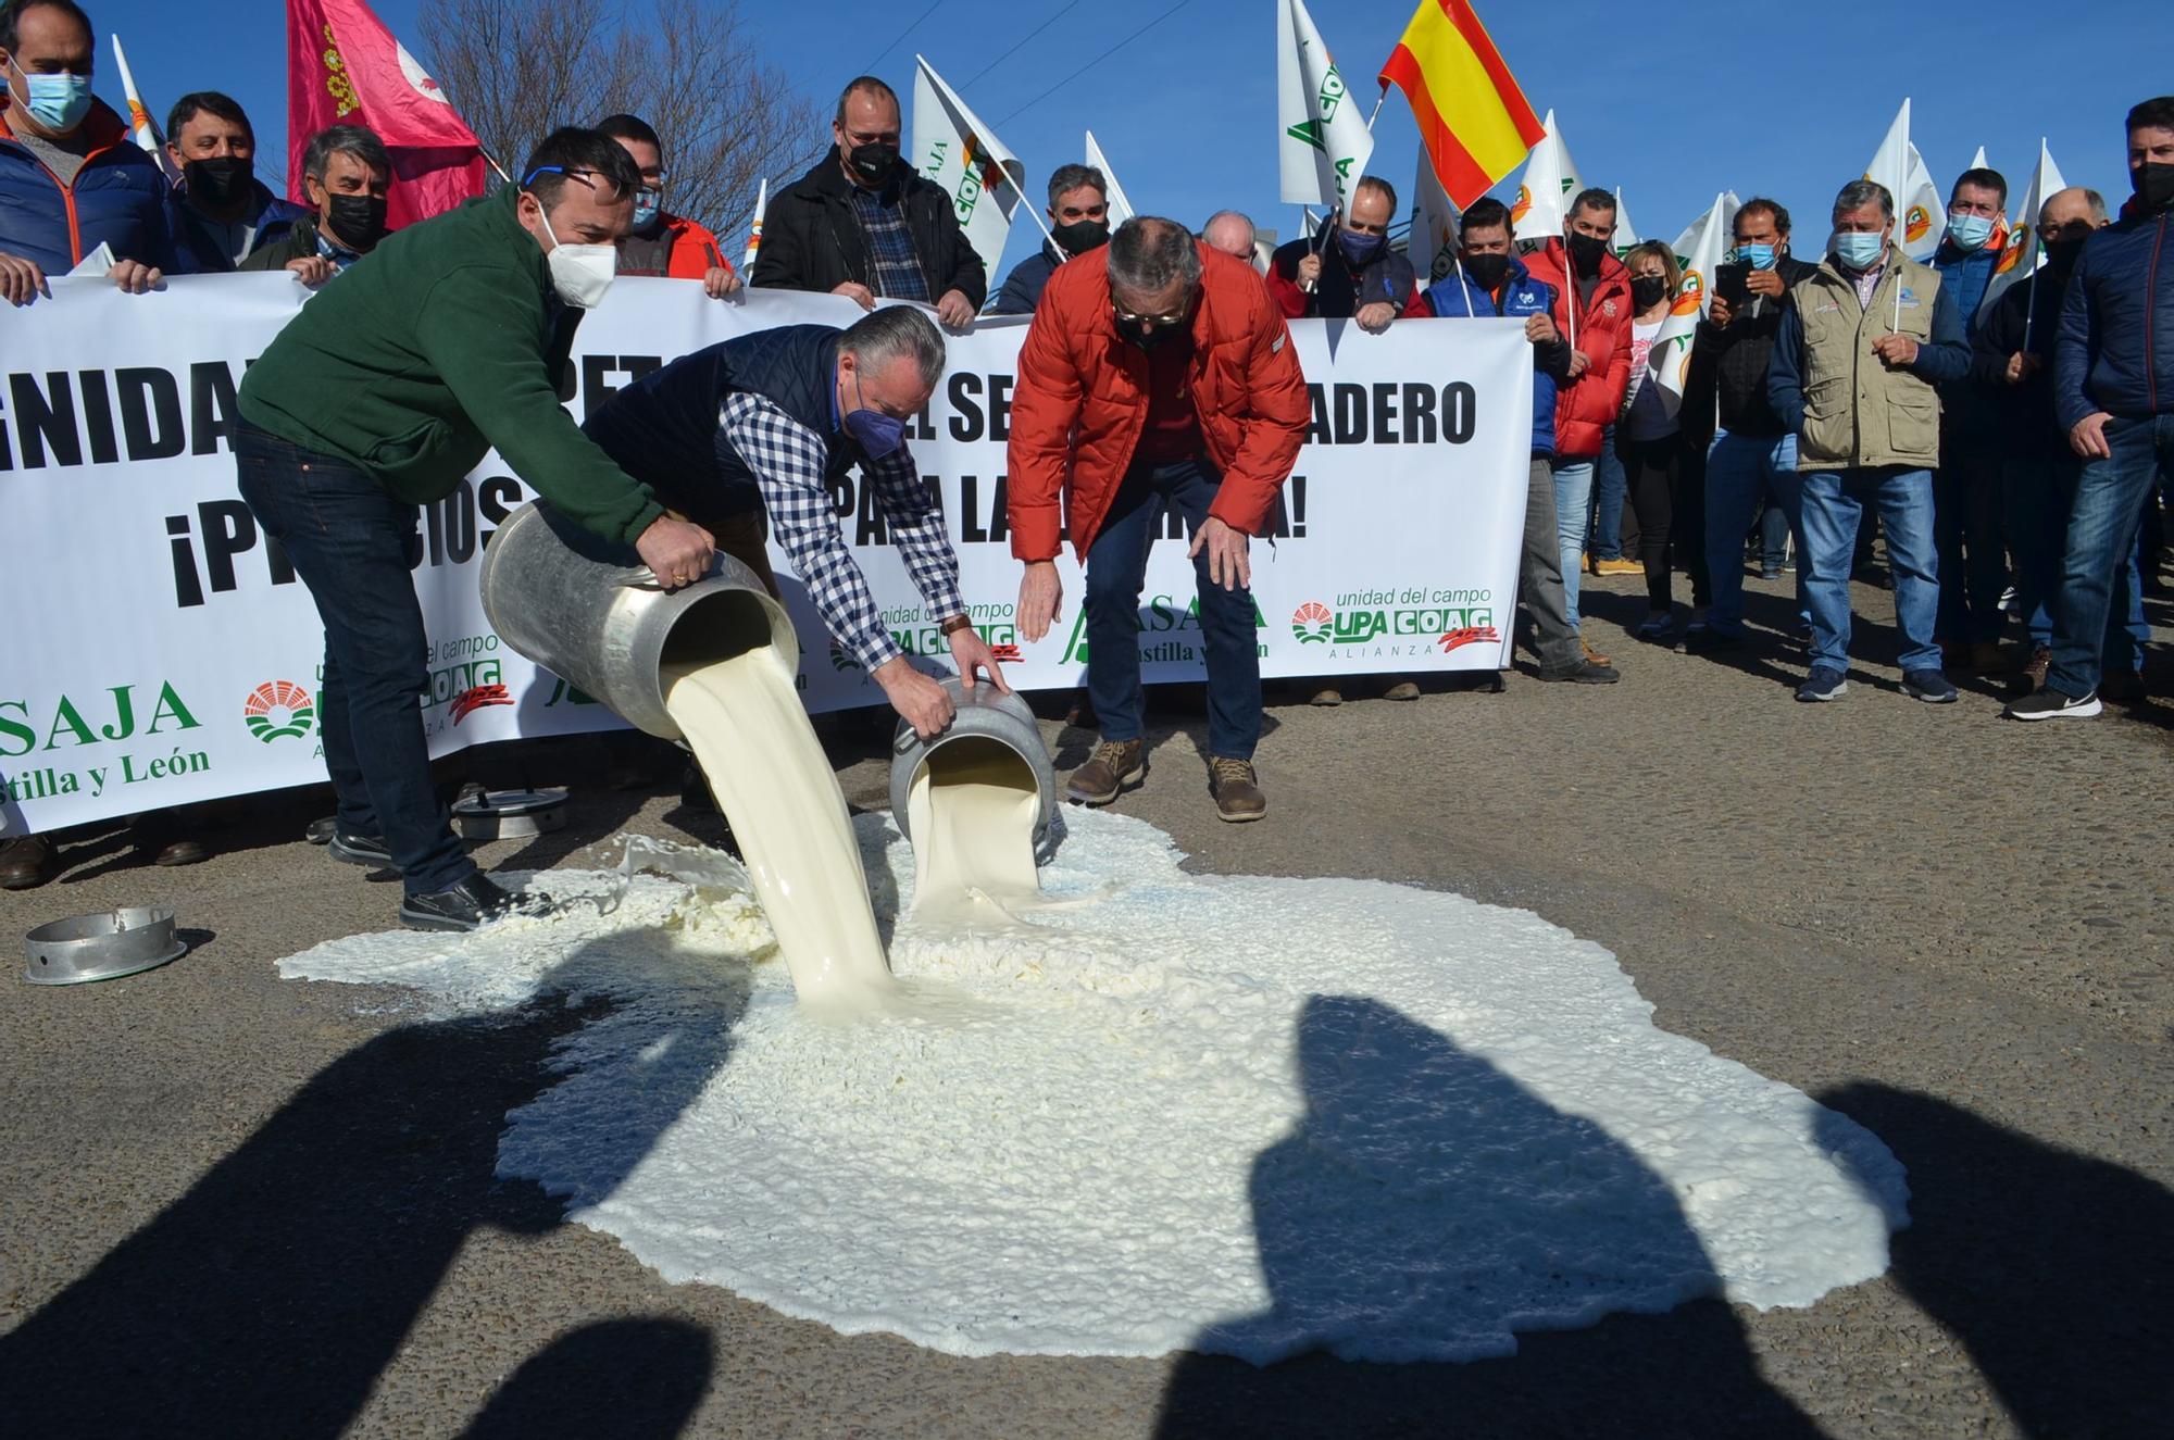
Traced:
[[1139, 589], [1170, 511], [1191, 533], [1209, 670], [1209, 787], [1224, 820], [1267, 811], [1252, 770], [1261, 659], [1248, 542], [1267, 524], [1313, 411], [1283, 311], [1252, 265], [1154, 215], [1059, 265], [1011, 400], [1020, 633], [1057, 620], [1065, 531], [1087, 570], [1087, 692], [1102, 744], [1067, 785], [1107, 805], [1148, 770]]

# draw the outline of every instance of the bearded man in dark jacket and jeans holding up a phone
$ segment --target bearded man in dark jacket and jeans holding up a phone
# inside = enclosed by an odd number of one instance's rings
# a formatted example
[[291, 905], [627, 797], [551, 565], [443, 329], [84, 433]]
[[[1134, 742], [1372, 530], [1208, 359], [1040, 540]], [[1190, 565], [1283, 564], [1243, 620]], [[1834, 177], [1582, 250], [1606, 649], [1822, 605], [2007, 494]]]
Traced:
[[[1789, 287], [1817, 265], [1789, 255], [1789, 211], [1754, 198], [1737, 209], [1735, 248], [1713, 272], [1713, 300], [1698, 322], [1685, 383], [1685, 429], [1713, 424], [1707, 448], [1707, 533], [1700, 557], [1707, 574], [1691, 572], [1691, 624], [1685, 650], [1722, 650], [1744, 644], [1744, 531], [1759, 498], [1767, 496], [1789, 518], [1796, 537], [1796, 603], [1804, 611], [1802, 483], [1796, 472], [1796, 433], [1767, 402], [1774, 337], [1789, 309]], [[1711, 605], [1700, 613], [1696, 598]]]

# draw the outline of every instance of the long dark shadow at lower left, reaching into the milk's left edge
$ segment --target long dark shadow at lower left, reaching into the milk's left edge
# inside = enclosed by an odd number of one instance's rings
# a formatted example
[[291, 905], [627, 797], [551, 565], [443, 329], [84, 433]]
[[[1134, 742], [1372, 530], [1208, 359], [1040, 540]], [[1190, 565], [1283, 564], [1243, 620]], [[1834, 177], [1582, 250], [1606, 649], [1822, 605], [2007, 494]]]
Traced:
[[[611, 964], [600, 946], [578, 951], [528, 1007], [407, 1025], [311, 1077], [187, 1194], [0, 1336], [0, 1429], [343, 1433], [472, 1231], [563, 1222], [561, 1201], [498, 1179], [500, 1133], [559, 1081], [557, 1053], [576, 1031], [611, 1025], [613, 1001], [567, 998], [598, 994]], [[624, 1179], [700, 1094], [744, 1005], [744, 985], [717, 988], [628, 1038], [670, 1062], [583, 1096], [591, 1116], [611, 1116], [596, 1127], [611, 1129], [609, 1146], [585, 1151], [583, 1194]]]

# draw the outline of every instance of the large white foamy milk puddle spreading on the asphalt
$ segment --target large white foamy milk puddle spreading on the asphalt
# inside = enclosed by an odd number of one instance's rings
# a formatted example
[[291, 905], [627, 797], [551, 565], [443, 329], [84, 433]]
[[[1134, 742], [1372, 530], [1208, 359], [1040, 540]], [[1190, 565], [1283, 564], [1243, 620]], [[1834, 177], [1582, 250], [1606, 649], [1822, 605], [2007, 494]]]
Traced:
[[500, 1175], [670, 1281], [959, 1355], [1472, 1360], [1887, 1268], [1894, 1155], [1654, 1029], [1598, 944], [1402, 885], [1191, 877], [1139, 820], [1065, 818], [1048, 898], [991, 927], [915, 918], [909, 846], [857, 820], [878, 914], [907, 911], [894, 970], [957, 1011], [796, 1007], [704, 866], [611, 914], [622, 877], [537, 874], [598, 905], [280, 972], [439, 1014], [609, 998]]

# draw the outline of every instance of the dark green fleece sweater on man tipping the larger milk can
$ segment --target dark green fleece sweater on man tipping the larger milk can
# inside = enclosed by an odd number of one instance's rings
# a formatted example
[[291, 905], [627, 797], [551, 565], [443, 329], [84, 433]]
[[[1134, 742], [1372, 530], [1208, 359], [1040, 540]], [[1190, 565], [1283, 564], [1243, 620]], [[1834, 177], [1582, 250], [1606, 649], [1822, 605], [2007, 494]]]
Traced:
[[407, 502], [452, 494], [483, 452], [589, 531], [633, 542], [657, 496], [559, 405], [550, 265], [513, 218], [520, 191], [389, 235], [287, 322], [241, 381], [241, 415], [352, 461]]

